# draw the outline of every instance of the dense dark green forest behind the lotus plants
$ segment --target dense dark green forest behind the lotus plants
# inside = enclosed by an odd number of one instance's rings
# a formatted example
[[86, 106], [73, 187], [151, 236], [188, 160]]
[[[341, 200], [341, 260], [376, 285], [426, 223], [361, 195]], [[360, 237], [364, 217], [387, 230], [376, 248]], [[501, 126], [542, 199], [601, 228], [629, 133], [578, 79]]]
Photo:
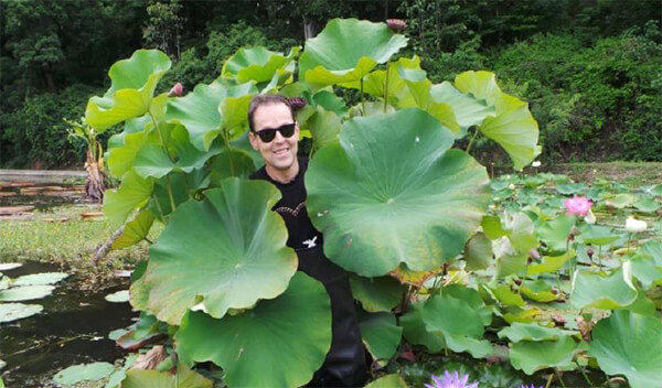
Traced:
[[[286, 51], [338, 17], [405, 20], [405, 54], [434, 82], [496, 73], [530, 103], [544, 162], [662, 161], [659, 0], [2, 0], [0, 11], [0, 168], [78, 165], [84, 143], [64, 119], [135, 50], [172, 58], [161, 89], [191, 90], [238, 47]], [[487, 143], [477, 151], [500, 162]]]

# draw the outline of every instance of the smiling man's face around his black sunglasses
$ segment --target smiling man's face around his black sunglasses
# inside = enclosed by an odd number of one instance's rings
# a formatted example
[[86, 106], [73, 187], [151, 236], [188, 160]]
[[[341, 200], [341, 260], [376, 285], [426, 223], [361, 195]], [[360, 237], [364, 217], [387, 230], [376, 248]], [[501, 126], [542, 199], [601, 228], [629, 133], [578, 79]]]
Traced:
[[[253, 127], [255, 132], [269, 128], [279, 128], [282, 125], [292, 123], [293, 121], [289, 107], [278, 103], [263, 105], [258, 107], [253, 115]], [[274, 140], [269, 142], [263, 141], [257, 133], [253, 132], [250, 132], [249, 139], [253, 148], [258, 151], [265, 160], [267, 172], [271, 170], [271, 172], [287, 175], [292, 169], [298, 169], [298, 125], [295, 126], [295, 133], [289, 138], [284, 137], [282, 133], [277, 131]]]

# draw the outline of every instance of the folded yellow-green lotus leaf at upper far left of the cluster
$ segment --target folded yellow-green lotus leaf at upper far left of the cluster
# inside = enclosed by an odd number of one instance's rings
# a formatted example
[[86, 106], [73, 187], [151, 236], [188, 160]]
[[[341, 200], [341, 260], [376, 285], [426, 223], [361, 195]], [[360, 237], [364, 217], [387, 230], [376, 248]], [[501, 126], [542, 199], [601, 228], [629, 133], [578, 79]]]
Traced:
[[115, 63], [108, 72], [110, 88], [103, 97], [89, 99], [85, 121], [97, 131], [104, 131], [147, 114], [157, 84], [170, 65], [168, 55], [158, 50], [138, 50], [130, 58]]

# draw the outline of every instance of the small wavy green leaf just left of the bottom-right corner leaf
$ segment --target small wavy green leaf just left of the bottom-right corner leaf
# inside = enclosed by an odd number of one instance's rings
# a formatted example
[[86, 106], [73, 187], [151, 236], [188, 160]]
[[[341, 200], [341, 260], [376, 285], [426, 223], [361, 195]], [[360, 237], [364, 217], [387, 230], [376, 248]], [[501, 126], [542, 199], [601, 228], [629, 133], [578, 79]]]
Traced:
[[572, 367], [577, 344], [569, 335], [558, 341], [521, 341], [511, 344], [510, 360], [515, 369], [533, 375], [536, 370], [553, 367]]

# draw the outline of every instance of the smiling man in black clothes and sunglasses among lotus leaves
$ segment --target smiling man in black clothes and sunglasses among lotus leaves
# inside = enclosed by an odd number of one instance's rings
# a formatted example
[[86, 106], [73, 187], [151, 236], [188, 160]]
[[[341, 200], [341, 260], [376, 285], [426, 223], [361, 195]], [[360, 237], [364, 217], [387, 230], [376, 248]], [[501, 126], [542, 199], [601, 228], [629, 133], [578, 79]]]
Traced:
[[288, 230], [287, 245], [297, 251], [299, 270], [324, 284], [331, 299], [332, 343], [310, 387], [356, 387], [365, 381], [365, 354], [356, 321], [348, 273], [323, 256], [322, 235], [306, 209], [303, 174], [308, 160], [298, 159], [299, 126], [287, 98], [255, 96], [248, 108], [249, 139], [265, 160], [250, 175], [278, 187], [282, 198], [275, 211]]

